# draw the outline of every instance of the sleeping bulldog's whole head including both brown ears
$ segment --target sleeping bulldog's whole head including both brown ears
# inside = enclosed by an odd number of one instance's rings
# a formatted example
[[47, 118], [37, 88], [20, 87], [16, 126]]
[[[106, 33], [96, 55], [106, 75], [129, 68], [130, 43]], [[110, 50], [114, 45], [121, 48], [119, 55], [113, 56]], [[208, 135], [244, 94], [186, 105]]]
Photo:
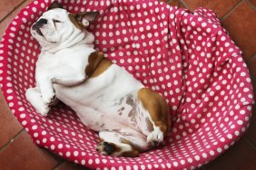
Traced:
[[32, 25], [31, 33], [43, 46], [58, 45], [84, 33], [84, 28], [94, 22], [97, 15], [98, 12], [71, 14], [54, 2]]

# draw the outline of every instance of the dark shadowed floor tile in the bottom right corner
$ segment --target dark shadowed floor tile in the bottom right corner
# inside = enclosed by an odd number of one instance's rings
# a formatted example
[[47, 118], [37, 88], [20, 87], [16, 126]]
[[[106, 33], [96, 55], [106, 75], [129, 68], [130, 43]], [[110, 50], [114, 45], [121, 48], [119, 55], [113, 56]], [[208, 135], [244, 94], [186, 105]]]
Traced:
[[245, 137], [242, 137], [234, 146], [218, 159], [206, 165], [206, 170], [239, 170], [255, 169], [256, 150], [253, 149]]

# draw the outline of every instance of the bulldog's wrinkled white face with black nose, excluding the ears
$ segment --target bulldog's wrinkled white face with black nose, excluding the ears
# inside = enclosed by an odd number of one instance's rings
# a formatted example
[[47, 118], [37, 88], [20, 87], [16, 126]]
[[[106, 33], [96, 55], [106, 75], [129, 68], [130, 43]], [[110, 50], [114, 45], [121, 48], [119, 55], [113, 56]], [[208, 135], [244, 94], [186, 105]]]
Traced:
[[31, 33], [41, 44], [62, 42], [74, 30], [66, 10], [56, 8], [45, 12], [31, 27]]

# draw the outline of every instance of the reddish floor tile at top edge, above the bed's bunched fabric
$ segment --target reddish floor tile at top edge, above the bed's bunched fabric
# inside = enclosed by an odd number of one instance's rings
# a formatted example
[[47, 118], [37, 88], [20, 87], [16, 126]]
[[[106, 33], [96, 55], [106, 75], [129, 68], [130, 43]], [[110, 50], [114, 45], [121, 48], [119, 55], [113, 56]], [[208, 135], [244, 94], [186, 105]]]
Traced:
[[182, 0], [182, 2], [184, 2], [191, 11], [194, 11], [198, 7], [206, 7], [212, 9], [220, 18], [222, 18], [222, 16], [231, 11], [232, 7], [237, 5], [240, 0]]

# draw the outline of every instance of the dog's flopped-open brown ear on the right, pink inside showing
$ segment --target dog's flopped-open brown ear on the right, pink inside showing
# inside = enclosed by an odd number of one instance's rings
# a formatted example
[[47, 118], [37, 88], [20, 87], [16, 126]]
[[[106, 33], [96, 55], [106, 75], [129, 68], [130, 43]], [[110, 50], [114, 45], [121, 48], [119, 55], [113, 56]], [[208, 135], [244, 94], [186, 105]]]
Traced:
[[75, 15], [75, 20], [78, 24], [86, 28], [89, 24], [93, 23], [99, 12], [85, 12]]

